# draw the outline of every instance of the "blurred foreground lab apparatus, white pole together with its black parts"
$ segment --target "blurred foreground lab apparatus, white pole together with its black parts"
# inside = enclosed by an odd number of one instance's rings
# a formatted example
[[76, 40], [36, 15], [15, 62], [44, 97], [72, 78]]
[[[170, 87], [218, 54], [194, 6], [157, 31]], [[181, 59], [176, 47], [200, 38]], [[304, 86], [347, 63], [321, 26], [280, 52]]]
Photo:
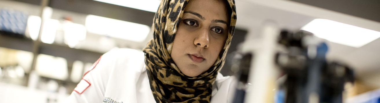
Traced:
[[[262, 40], [244, 41], [240, 53], [235, 54], [236, 65], [231, 69], [237, 71], [239, 82], [233, 103], [343, 103], [345, 87], [354, 82], [353, 70], [342, 63], [327, 62], [328, 46], [312, 33], [282, 30], [275, 34], [274, 29], [273, 24], [266, 24]], [[251, 44], [260, 42], [266, 47]]]

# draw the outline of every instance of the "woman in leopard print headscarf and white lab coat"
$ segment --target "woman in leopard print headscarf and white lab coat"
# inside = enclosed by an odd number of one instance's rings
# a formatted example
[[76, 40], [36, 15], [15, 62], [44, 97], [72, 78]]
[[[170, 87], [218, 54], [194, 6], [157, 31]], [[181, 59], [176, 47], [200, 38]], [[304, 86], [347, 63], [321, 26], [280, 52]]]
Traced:
[[230, 102], [234, 79], [219, 71], [235, 24], [233, 0], [162, 0], [143, 52], [107, 52], [68, 102]]

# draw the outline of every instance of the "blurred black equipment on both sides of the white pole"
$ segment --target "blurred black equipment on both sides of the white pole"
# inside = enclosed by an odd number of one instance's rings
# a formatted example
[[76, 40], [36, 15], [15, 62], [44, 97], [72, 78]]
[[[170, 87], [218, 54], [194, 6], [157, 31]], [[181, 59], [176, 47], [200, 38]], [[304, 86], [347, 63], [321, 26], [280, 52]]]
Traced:
[[[346, 82], [354, 81], [353, 70], [340, 62], [326, 61], [328, 47], [312, 33], [282, 30], [278, 39], [284, 47], [275, 56], [275, 64], [284, 78], [277, 82], [276, 103], [342, 103]], [[250, 61], [253, 54], [237, 54], [238, 79], [233, 103], [244, 103]]]

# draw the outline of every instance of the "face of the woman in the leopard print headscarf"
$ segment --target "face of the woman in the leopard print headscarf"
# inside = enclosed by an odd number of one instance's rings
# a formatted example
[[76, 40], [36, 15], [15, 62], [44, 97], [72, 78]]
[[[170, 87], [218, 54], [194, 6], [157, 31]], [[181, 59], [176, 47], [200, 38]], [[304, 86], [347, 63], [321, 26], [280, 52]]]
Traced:
[[182, 73], [198, 76], [215, 63], [228, 36], [228, 17], [221, 0], [189, 1], [171, 51]]

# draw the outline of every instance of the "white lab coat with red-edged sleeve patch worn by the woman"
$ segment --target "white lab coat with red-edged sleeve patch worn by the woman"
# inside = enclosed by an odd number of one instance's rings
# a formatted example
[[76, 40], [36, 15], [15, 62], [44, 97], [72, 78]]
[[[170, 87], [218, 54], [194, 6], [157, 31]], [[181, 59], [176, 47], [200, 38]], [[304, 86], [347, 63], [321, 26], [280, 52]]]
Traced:
[[[236, 80], [218, 73], [211, 103], [231, 103]], [[86, 73], [66, 103], [155, 103], [149, 86], [144, 53], [113, 49]]]

